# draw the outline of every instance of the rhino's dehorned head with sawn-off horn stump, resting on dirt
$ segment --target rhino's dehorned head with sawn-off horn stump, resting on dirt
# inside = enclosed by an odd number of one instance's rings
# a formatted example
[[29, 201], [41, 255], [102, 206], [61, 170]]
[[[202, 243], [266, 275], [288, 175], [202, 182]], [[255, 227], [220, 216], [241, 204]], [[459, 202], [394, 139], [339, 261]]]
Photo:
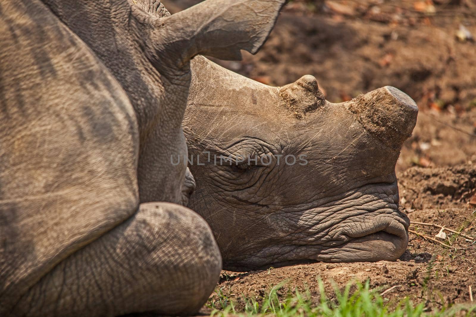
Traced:
[[332, 104], [310, 75], [271, 87], [195, 58], [189, 207], [211, 226], [224, 267], [400, 257], [409, 220], [395, 165], [417, 113], [391, 86]]

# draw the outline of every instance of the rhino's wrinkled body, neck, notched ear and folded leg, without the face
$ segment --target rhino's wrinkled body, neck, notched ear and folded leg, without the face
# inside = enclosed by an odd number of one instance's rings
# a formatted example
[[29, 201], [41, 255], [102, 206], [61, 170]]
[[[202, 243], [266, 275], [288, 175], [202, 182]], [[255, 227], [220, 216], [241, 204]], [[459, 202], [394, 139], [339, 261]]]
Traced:
[[197, 54], [256, 52], [284, 0], [0, 4], [0, 316], [196, 312], [221, 258], [179, 205]]

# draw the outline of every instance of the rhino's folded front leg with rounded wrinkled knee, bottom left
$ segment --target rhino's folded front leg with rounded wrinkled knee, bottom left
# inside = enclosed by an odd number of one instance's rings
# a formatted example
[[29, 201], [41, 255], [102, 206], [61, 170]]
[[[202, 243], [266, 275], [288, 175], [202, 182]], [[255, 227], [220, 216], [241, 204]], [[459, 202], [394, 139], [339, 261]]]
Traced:
[[208, 224], [168, 202], [62, 261], [20, 299], [13, 316], [118, 316], [198, 311], [218, 282], [221, 257]]

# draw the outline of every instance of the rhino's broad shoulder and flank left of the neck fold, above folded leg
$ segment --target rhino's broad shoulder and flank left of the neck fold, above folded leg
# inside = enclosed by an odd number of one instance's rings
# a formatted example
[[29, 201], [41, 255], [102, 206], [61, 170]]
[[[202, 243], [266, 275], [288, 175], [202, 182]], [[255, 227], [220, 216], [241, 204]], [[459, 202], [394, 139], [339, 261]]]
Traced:
[[0, 312], [138, 207], [128, 96], [40, 1], [0, 5]]

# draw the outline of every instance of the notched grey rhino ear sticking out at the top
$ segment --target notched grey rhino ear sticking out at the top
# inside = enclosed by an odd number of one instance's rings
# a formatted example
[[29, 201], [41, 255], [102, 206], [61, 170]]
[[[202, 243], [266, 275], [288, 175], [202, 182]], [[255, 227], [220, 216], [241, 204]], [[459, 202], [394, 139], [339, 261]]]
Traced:
[[255, 54], [263, 45], [284, 2], [206, 0], [156, 19], [148, 44], [156, 56], [178, 54], [182, 65], [198, 54], [240, 60], [240, 49]]

